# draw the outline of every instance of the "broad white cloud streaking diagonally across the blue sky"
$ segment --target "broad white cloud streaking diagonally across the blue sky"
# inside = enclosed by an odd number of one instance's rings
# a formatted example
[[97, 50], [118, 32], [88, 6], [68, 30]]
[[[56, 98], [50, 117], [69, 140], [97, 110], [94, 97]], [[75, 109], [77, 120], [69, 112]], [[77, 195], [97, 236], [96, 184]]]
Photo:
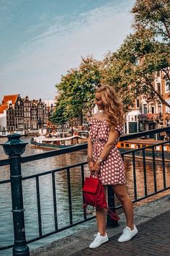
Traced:
[[[31, 95], [53, 98], [54, 85], [68, 69], [77, 67], [81, 56], [93, 54], [103, 59], [107, 51], [115, 51], [130, 33], [132, 17], [129, 7], [109, 4], [67, 21], [59, 17], [44, 33], [24, 43], [14, 61], [1, 69], [4, 85], [14, 81], [21, 90], [28, 86]], [[51, 88], [47, 92], [47, 88]], [[22, 89], [24, 90], [24, 89]]]

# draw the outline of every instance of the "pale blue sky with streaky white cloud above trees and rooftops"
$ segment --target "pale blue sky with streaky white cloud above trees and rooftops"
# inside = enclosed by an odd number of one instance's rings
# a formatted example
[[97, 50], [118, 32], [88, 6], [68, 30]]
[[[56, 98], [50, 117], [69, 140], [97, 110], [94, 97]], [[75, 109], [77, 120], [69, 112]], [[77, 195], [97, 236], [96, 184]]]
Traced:
[[133, 32], [135, 0], [0, 0], [0, 102], [53, 100], [81, 57], [104, 59]]

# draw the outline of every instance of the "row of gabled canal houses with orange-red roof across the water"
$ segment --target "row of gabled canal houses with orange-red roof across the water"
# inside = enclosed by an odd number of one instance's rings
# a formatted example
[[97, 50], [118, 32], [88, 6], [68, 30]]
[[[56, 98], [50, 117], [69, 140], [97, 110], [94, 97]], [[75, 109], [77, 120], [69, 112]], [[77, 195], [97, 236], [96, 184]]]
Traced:
[[[0, 105], [0, 131], [28, 131], [45, 129], [48, 123], [49, 107], [26, 96], [4, 95]], [[3, 133], [3, 134], [2, 134]]]

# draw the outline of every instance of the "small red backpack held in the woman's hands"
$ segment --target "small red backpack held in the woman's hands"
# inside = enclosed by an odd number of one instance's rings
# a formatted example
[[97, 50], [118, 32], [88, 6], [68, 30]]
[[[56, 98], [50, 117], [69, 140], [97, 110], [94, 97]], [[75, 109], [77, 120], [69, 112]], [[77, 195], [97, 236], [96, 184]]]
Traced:
[[87, 205], [91, 205], [96, 209], [105, 208], [107, 209], [107, 213], [111, 218], [116, 221], [120, 219], [116, 213], [112, 212], [112, 210], [109, 210], [109, 208], [107, 208], [104, 188], [98, 178], [92, 178], [92, 176], [86, 177], [82, 190], [84, 195], [84, 210], [86, 210]]

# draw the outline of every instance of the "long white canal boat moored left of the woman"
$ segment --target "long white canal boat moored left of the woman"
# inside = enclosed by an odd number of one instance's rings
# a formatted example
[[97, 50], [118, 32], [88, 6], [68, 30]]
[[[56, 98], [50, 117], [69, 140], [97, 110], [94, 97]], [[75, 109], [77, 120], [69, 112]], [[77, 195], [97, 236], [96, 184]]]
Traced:
[[32, 146], [38, 148], [67, 148], [72, 145], [84, 144], [87, 142], [87, 138], [79, 135], [70, 137], [45, 137], [38, 136], [33, 137], [30, 141]]

